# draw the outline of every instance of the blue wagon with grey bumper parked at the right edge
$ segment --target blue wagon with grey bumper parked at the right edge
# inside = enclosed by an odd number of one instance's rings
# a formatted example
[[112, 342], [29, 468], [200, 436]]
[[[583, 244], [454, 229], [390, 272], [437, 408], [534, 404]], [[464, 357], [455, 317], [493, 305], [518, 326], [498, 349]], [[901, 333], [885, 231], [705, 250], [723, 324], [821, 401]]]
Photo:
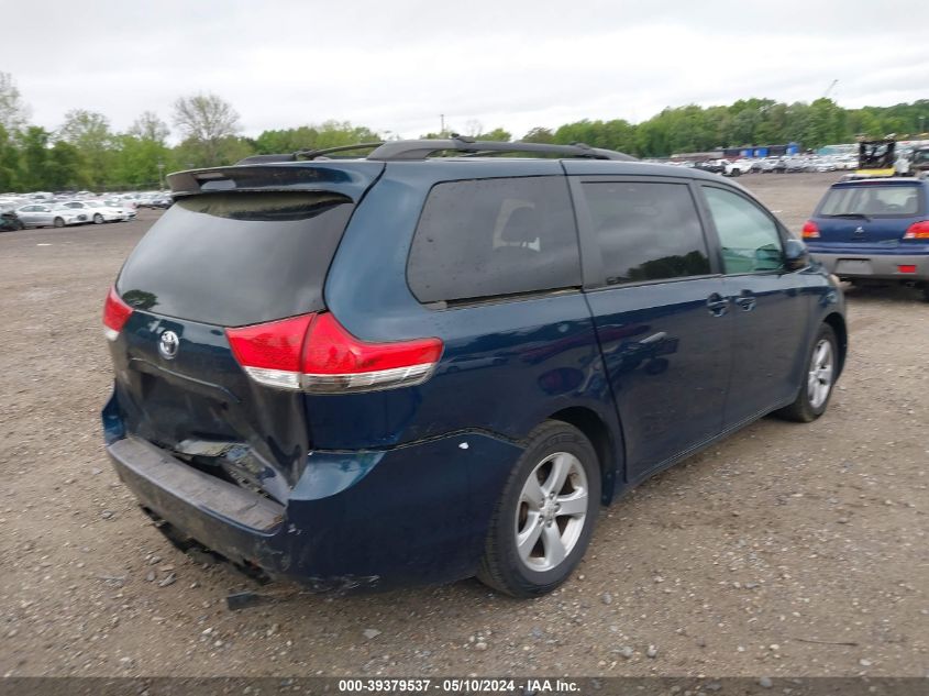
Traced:
[[839, 278], [915, 285], [929, 300], [929, 181], [833, 184], [803, 236], [814, 258]]

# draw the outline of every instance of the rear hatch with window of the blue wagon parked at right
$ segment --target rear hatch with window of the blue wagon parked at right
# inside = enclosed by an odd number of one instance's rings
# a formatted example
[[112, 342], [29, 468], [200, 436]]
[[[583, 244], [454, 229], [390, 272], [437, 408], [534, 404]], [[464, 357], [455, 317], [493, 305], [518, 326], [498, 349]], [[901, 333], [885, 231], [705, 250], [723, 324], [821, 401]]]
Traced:
[[889, 252], [900, 244], [914, 218], [926, 214], [924, 198], [915, 180], [837, 184], [814, 216], [819, 237], [809, 241], [849, 252]]

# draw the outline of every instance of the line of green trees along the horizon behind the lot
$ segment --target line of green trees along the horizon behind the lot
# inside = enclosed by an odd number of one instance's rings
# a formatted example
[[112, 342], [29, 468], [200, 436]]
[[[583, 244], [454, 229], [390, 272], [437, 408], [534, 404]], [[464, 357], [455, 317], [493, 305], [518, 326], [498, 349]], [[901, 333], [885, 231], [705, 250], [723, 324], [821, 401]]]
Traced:
[[[158, 188], [164, 174], [232, 164], [253, 154], [335, 147], [384, 140], [385, 134], [342, 121], [241, 134], [232, 104], [210, 93], [180, 97], [172, 106], [179, 141], [169, 145], [167, 122], [146, 111], [124, 132], [106, 115], [73, 109], [55, 131], [30, 123], [30, 109], [15, 81], [0, 73], [0, 192], [29, 190], [117, 190]], [[664, 109], [641, 123], [622, 119], [582, 120], [556, 129], [534, 128], [521, 140], [619, 150], [640, 157], [705, 152], [719, 147], [788, 142], [805, 148], [852, 142], [859, 134], [917, 134], [929, 125], [929, 99], [893, 107], [843, 109], [831, 99], [784, 103], [740, 99], [730, 106], [690, 104]], [[427, 133], [423, 137], [447, 136]], [[468, 121], [463, 134], [510, 141], [501, 128]]]

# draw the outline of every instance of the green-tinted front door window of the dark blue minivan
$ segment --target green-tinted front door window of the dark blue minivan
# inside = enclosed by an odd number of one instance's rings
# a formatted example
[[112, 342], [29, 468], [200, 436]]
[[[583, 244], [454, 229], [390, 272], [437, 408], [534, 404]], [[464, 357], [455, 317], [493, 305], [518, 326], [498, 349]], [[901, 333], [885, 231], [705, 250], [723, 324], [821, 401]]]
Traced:
[[704, 195], [719, 235], [727, 274], [781, 269], [784, 258], [781, 234], [767, 213], [732, 191], [704, 187]]

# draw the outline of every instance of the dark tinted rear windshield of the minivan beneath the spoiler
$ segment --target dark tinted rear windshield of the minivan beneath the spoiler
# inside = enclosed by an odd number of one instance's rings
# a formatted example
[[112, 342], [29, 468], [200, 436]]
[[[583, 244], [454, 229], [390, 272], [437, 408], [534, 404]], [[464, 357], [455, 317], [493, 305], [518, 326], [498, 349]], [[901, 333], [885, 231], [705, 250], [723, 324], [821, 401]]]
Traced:
[[223, 327], [323, 308], [327, 269], [352, 200], [322, 191], [179, 199], [117, 283], [133, 307]]

